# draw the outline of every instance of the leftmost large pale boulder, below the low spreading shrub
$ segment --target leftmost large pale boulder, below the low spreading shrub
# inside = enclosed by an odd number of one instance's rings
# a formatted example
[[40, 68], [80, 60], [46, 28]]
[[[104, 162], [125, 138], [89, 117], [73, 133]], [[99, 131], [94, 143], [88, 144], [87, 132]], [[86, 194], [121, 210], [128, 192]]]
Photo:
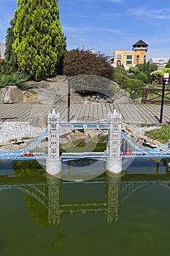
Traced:
[[14, 103], [23, 100], [23, 92], [17, 86], [7, 86], [8, 90], [4, 95], [4, 103]]

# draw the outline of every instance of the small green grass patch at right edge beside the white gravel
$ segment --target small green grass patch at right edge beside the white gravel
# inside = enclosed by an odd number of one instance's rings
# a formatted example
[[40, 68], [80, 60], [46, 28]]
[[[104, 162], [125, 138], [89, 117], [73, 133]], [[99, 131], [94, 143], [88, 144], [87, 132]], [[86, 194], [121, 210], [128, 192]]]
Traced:
[[152, 129], [152, 131], [145, 132], [145, 135], [153, 140], [166, 143], [170, 140], [170, 125], [167, 124], [165, 127], [161, 127], [160, 129]]

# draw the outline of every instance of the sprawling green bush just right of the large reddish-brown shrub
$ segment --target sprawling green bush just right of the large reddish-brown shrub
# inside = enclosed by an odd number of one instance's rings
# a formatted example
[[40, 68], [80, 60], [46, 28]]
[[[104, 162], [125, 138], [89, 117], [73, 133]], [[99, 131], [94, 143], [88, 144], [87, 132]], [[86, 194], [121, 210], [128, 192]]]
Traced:
[[117, 72], [115, 72], [113, 80], [125, 89], [125, 91], [128, 91], [131, 94], [132, 99], [142, 96], [142, 89], [144, 87], [144, 82], [142, 80], [126, 78], [124, 75]]

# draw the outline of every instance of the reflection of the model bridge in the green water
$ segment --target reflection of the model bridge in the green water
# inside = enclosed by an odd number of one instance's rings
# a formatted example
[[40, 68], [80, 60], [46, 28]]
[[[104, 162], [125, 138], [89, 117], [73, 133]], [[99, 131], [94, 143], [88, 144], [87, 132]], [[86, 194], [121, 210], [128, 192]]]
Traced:
[[[62, 214], [86, 214], [88, 212], [97, 214], [102, 212], [106, 214], [107, 222], [116, 222], [120, 204], [136, 190], [150, 184], [159, 184], [166, 187], [166, 189], [170, 189], [170, 173], [166, 173], [166, 175], [126, 174], [125, 176], [109, 176], [105, 173], [103, 176], [84, 182], [61, 181], [59, 178], [48, 175], [46, 177], [42, 176], [42, 181], [39, 181], [39, 177], [34, 178], [37, 181], [32, 181], [32, 178], [1, 177], [0, 192], [4, 189], [19, 189], [34, 197], [47, 209], [49, 224], [58, 227]], [[68, 199], [72, 186], [80, 185], [80, 183], [83, 189], [89, 190], [90, 187], [93, 187], [91, 191], [94, 193], [92, 195], [87, 193], [90, 197], [87, 199]], [[101, 190], [99, 193], [101, 198], [95, 198], [95, 186], [97, 191], [98, 189]], [[67, 191], [66, 199], [61, 200], [65, 189]], [[77, 189], [76, 195], [81, 197], [80, 187]]]

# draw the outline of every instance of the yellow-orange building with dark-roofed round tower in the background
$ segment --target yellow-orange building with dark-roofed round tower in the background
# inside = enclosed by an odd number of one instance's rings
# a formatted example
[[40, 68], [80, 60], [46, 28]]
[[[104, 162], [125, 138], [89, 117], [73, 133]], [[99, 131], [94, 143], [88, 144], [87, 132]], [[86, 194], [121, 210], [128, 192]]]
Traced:
[[113, 64], [132, 66], [134, 64], [143, 64], [146, 61], [148, 45], [139, 40], [132, 45], [132, 50], [114, 50]]

